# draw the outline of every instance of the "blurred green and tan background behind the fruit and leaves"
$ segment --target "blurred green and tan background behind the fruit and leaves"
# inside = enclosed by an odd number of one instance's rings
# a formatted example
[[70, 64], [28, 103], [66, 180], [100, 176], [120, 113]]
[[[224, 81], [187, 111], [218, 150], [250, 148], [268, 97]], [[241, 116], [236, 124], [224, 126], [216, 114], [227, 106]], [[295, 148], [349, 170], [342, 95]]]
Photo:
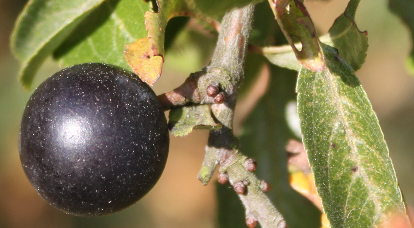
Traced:
[[[69, 216], [49, 206], [34, 191], [24, 176], [17, 149], [20, 117], [33, 89], [23, 91], [19, 86], [19, 63], [9, 48], [14, 21], [25, 2], [0, 0], [0, 227], [215, 227], [214, 184], [202, 186], [196, 178], [207, 142], [205, 131], [171, 137], [170, 156], [158, 184], [140, 202], [114, 215]], [[347, 2], [305, 1], [321, 34]], [[404, 67], [412, 44], [406, 27], [388, 11], [387, 4], [387, 0], [360, 3], [356, 23], [361, 30], [368, 30], [369, 49], [357, 75], [378, 114], [406, 202], [414, 205], [414, 78]], [[198, 30], [195, 34], [178, 34], [176, 45], [166, 54], [163, 76], [154, 86], [157, 94], [175, 88], [188, 73], [208, 63], [214, 34]], [[189, 36], [207, 41], [200, 45], [183, 42]], [[199, 56], [205, 53], [207, 58]], [[52, 60], [47, 60], [36, 76], [34, 88], [58, 70]]]

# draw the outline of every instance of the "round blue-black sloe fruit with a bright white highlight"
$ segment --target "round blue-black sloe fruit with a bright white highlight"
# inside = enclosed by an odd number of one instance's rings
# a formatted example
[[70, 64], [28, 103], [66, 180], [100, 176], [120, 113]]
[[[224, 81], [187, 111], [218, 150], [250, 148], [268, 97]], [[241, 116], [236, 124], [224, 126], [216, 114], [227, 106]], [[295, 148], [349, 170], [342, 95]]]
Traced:
[[168, 125], [152, 89], [102, 63], [67, 67], [46, 79], [20, 126], [20, 159], [31, 185], [77, 216], [137, 202], [163, 172], [168, 146]]

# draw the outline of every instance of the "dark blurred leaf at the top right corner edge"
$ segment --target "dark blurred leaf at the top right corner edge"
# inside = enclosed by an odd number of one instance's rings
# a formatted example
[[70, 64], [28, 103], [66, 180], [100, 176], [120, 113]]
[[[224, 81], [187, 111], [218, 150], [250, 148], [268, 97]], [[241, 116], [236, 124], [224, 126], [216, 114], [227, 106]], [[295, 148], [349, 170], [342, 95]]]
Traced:
[[[402, 21], [407, 24], [411, 39], [414, 41], [414, 1], [413, 0], [390, 0], [389, 7], [392, 12], [401, 17]], [[411, 50], [407, 59], [407, 68], [411, 74], [414, 74], [414, 48]]]

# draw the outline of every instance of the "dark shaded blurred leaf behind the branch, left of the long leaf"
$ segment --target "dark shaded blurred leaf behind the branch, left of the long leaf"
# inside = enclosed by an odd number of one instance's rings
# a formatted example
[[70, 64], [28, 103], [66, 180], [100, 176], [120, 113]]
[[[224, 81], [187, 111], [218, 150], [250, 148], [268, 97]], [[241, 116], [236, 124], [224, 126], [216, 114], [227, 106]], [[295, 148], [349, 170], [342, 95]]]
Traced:
[[[296, 72], [270, 67], [266, 94], [243, 123], [240, 137], [244, 154], [254, 158], [258, 178], [270, 183], [267, 192], [291, 228], [320, 227], [320, 211], [288, 182], [286, 145], [294, 138], [287, 125], [285, 107], [295, 99]], [[226, 202], [223, 202], [226, 203]]]

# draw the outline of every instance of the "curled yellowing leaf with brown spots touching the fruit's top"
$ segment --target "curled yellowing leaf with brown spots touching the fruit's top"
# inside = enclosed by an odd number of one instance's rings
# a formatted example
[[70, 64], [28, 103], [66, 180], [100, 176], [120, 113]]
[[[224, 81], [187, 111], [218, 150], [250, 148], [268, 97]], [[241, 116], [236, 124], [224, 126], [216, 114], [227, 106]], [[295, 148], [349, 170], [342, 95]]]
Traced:
[[[164, 63], [164, 35], [169, 19], [190, 16], [213, 23], [220, 20], [224, 13], [232, 7], [241, 7], [251, 2], [260, 1], [262, 0], [159, 0], [157, 1], [158, 12], [148, 11], [145, 13], [147, 38], [125, 46], [125, 57], [128, 64], [143, 81], [152, 85], [161, 75]], [[148, 65], [154, 70], [148, 71], [146, 68]]]

